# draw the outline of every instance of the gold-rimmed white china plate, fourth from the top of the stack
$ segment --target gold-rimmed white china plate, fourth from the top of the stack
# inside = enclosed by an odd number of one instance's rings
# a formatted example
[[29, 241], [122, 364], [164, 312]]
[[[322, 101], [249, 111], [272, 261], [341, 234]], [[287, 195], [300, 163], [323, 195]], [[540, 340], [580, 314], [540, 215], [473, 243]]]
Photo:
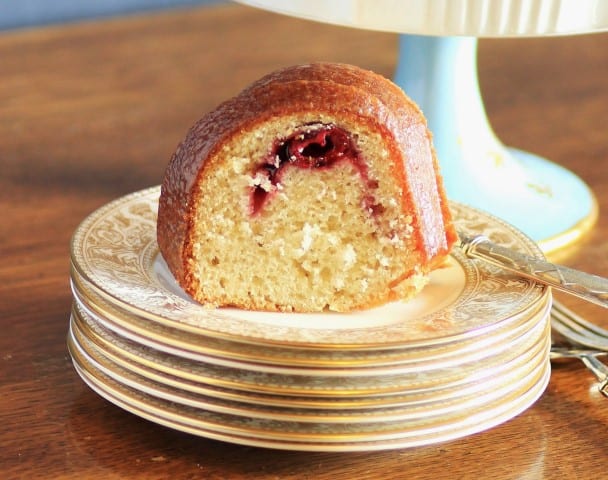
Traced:
[[[401, 396], [401, 404], [414, 404], [453, 398], [479, 389], [480, 383], [486, 384], [493, 379], [502, 381], [502, 375], [508, 375], [510, 370], [531, 361], [534, 356], [546, 357], [544, 340], [548, 338], [548, 312], [531, 320], [529, 328], [511, 340], [505, 350], [490, 351], [483, 361], [455, 359], [452, 364], [435, 368], [420, 367], [420, 370], [405, 373], [379, 370], [364, 376], [349, 375], [349, 369], [342, 370], [341, 375], [331, 371], [329, 375], [323, 375], [323, 371], [315, 368], [295, 374], [277, 373], [184, 358], [123, 338], [106, 329], [78, 305], [73, 310], [72, 328], [77, 336], [86, 338], [97, 351], [121, 367], [156, 381], [169, 378], [184, 389], [192, 390], [192, 385], [198, 389], [202, 385], [244, 394], [307, 396], [309, 399], [339, 397], [342, 400], [350, 398], [351, 404], [353, 397], [363, 397], [369, 402], [373, 396]], [[284, 403], [289, 402], [284, 400]]]

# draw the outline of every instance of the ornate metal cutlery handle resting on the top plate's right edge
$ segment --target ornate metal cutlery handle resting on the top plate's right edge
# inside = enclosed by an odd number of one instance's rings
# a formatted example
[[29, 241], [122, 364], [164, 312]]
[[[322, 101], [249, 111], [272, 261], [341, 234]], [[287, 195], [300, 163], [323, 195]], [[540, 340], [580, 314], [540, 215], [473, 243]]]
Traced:
[[516, 252], [491, 242], [484, 235], [460, 235], [460, 248], [470, 258], [478, 258], [522, 277], [608, 308], [608, 278]]

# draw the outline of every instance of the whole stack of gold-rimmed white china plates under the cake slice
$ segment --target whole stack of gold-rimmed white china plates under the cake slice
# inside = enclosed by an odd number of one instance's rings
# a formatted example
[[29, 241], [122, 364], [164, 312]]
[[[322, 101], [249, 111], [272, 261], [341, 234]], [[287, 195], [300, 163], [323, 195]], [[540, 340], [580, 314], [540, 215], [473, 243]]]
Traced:
[[[154, 187], [105, 205], [71, 244], [70, 353], [125, 410], [238, 444], [380, 450], [494, 427], [547, 385], [547, 288], [456, 249], [407, 303], [352, 314], [204, 308], [158, 252], [158, 197]], [[452, 210], [460, 230], [539, 254], [500, 220]]]

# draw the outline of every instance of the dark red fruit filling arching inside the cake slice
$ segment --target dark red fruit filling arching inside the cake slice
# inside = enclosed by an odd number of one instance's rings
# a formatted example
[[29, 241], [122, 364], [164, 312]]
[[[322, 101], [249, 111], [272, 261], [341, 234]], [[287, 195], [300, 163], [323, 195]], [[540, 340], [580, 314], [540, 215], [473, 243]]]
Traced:
[[[287, 167], [301, 169], [331, 168], [340, 161], [351, 162], [368, 188], [377, 188], [367, 175], [367, 166], [350, 135], [333, 124], [304, 125], [289, 137], [277, 141], [267, 159], [254, 172], [251, 194], [251, 213], [259, 213], [280, 183]], [[366, 196], [366, 207], [374, 210], [373, 197]]]

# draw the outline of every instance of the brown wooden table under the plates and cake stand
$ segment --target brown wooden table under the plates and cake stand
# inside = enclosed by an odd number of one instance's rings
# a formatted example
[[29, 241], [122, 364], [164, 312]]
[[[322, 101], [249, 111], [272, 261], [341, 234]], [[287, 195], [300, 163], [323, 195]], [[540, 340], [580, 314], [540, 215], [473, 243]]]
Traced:
[[[608, 36], [482, 40], [491, 121], [596, 192], [564, 262], [608, 276]], [[276, 67], [336, 60], [391, 76], [396, 36], [229, 5], [0, 34], [0, 478], [602, 478], [608, 398], [578, 362], [528, 411], [411, 450], [299, 453], [179, 433], [106, 402], [66, 351], [69, 240], [92, 210], [160, 182], [190, 124]], [[606, 311], [569, 301], [595, 322]]]

